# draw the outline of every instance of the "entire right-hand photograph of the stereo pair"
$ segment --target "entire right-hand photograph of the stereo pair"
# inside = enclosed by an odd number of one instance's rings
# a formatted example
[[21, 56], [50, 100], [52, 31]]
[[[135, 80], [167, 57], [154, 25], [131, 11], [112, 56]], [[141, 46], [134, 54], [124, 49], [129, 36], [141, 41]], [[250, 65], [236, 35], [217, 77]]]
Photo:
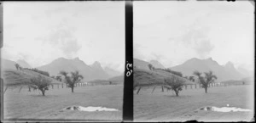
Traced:
[[133, 2], [134, 121], [253, 121], [254, 7]]

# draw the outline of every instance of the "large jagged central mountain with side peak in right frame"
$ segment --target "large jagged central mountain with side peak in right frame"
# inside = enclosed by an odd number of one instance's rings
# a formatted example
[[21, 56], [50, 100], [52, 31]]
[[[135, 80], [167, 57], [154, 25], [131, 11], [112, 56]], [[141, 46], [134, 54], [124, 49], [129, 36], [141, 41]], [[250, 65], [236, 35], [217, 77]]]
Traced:
[[220, 65], [216, 61], [209, 59], [189, 59], [183, 64], [170, 68], [171, 70], [180, 71], [183, 75], [193, 75], [195, 70], [207, 72], [212, 70], [214, 75], [217, 75], [216, 81], [239, 80], [242, 75], [235, 69], [234, 64], [228, 62], [225, 65]]

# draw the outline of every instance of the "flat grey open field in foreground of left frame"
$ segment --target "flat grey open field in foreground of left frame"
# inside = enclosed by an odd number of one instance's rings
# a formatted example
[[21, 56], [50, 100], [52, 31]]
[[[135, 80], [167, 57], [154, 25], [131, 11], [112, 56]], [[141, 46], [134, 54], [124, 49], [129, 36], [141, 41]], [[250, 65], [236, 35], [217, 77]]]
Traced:
[[[123, 85], [55, 88], [28, 92], [28, 88], [9, 88], [4, 93], [4, 119], [122, 120]], [[68, 106], [102, 106], [119, 111], [85, 112], [62, 110]]]

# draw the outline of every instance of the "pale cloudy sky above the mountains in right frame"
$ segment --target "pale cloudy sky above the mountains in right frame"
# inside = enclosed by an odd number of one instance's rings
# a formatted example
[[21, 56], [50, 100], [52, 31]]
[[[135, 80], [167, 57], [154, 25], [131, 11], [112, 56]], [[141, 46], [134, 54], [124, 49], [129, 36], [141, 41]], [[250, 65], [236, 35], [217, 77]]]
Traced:
[[247, 1], [134, 2], [134, 58], [166, 67], [212, 58], [254, 67], [254, 6]]

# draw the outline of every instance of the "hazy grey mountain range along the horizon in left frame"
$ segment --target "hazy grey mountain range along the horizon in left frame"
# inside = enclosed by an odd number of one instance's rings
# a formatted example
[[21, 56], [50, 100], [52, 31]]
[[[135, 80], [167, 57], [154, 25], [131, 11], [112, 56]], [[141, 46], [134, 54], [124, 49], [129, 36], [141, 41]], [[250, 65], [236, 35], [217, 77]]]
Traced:
[[[31, 68], [25, 60], [18, 60], [17, 62], [11, 61], [8, 59], [2, 59], [3, 70], [10, 69], [15, 70], [15, 64], [18, 63], [23, 68]], [[49, 64], [37, 67], [38, 70], [44, 70], [49, 72], [49, 75], [59, 75], [61, 70], [67, 72], [79, 70], [80, 74], [84, 76], [84, 81], [91, 81], [96, 79], [109, 79], [114, 76], [121, 75], [121, 72], [113, 70], [109, 67], [102, 68], [102, 65], [99, 62], [94, 64], [85, 64], [84, 61], [79, 58], [75, 59], [65, 59], [59, 58], [53, 60]]]

